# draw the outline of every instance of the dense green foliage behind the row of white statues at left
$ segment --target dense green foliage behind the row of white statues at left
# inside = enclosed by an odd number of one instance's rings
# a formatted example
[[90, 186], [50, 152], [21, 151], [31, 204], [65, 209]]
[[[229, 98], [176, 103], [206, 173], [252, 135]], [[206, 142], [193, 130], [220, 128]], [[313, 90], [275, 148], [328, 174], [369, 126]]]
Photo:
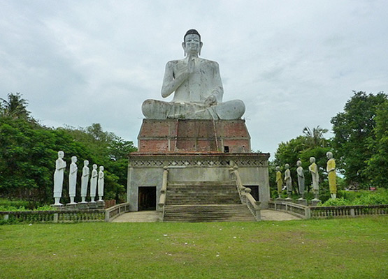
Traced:
[[[105, 167], [106, 199], [125, 198], [127, 155], [136, 151], [133, 142], [102, 130], [98, 123], [87, 128], [46, 128], [29, 117], [27, 100], [17, 93], [1, 103], [0, 114], [0, 197], [35, 203], [52, 202], [57, 151], [65, 152], [67, 165], [72, 156]], [[15, 105], [16, 104], [16, 105]], [[69, 201], [68, 177], [64, 174], [64, 199]], [[78, 167], [78, 176], [82, 167]], [[80, 197], [78, 187], [77, 198]], [[76, 198], [76, 201], [78, 201]]]

